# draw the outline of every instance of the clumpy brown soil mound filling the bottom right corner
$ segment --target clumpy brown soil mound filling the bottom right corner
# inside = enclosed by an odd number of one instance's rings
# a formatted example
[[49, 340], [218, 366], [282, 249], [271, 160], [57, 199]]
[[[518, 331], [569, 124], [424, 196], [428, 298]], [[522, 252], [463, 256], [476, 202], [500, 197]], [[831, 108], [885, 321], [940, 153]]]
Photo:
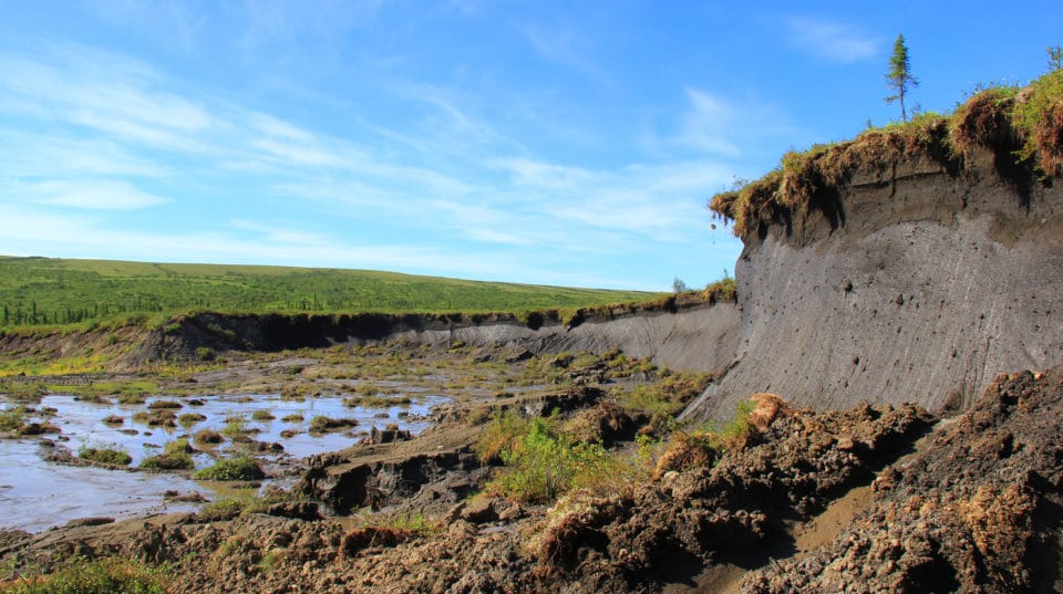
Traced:
[[1060, 592], [1063, 368], [1001, 376], [830, 544], [743, 592]]

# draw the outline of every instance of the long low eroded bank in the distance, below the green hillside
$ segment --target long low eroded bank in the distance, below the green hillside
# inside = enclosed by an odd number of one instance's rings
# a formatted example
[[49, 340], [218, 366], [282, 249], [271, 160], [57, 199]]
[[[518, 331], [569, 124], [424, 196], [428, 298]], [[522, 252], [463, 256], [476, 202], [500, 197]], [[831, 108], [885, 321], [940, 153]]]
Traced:
[[[515, 354], [619, 348], [675, 369], [720, 372], [734, 357], [734, 301], [685, 294], [660, 302], [514, 314], [215, 314], [182, 316], [136, 348], [132, 362], [195, 358], [197, 350], [281, 351], [344, 343], [450, 346], [464, 344]], [[202, 352], [202, 351], [200, 351]], [[516, 356], [516, 355], [515, 355]]]

